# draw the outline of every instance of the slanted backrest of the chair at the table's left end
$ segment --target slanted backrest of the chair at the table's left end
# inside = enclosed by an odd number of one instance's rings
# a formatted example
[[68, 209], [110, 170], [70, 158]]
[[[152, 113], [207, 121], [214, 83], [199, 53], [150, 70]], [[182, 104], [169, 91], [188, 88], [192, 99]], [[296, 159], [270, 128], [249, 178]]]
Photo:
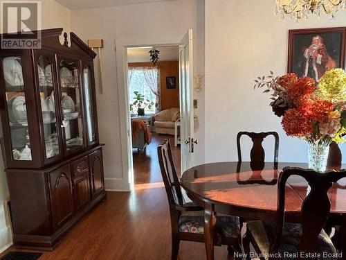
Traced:
[[161, 174], [165, 190], [167, 193], [168, 201], [171, 205], [183, 205], [183, 194], [181, 193], [181, 186], [178, 175], [176, 174], [176, 166], [172, 157], [172, 150], [170, 141], [165, 140], [163, 144], [158, 146], [158, 162], [160, 163]]

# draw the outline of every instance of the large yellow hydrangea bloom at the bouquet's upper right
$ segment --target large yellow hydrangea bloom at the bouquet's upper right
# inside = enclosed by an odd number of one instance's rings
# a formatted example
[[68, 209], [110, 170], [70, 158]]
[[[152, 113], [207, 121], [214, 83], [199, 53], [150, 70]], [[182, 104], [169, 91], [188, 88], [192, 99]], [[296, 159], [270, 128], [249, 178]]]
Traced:
[[315, 96], [333, 103], [346, 101], [346, 72], [343, 69], [327, 71], [320, 78]]

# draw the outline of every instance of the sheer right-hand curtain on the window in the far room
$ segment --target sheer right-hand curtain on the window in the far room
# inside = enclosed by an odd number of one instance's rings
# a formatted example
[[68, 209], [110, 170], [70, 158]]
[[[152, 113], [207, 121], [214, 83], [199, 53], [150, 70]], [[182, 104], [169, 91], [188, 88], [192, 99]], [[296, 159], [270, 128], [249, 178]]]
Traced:
[[155, 110], [158, 113], [161, 111], [159, 69], [158, 67], [144, 67], [142, 69], [145, 82], [156, 96]]

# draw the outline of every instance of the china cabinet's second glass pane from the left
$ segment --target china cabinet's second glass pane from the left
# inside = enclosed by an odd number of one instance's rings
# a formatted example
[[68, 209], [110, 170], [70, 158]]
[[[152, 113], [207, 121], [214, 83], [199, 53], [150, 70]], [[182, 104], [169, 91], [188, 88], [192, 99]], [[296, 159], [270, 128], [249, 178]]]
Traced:
[[39, 56], [37, 60], [37, 75], [46, 159], [49, 159], [60, 154], [53, 87], [53, 62], [51, 59], [44, 55]]

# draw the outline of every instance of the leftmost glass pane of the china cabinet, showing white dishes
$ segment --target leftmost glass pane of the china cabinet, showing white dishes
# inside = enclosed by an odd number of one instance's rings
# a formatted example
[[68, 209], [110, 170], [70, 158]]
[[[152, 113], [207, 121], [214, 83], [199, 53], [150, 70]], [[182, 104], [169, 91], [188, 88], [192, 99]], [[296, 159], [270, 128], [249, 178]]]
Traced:
[[32, 153], [28, 130], [22, 58], [10, 56], [2, 58], [1, 63], [5, 82], [12, 159], [31, 161]]

